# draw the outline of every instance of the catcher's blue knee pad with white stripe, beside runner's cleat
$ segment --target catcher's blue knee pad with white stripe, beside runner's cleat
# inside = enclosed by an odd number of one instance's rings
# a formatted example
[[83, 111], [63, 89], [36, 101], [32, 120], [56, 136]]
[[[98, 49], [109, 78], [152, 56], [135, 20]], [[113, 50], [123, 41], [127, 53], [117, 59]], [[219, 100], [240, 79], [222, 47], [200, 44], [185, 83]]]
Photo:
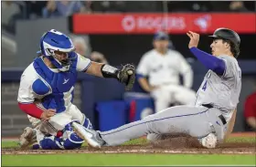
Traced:
[[67, 150], [72, 150], [80, 148], [82, 143], [83, 140], [75, 132], [71, 132], [69, 138], [64, 141], [63, 146]]

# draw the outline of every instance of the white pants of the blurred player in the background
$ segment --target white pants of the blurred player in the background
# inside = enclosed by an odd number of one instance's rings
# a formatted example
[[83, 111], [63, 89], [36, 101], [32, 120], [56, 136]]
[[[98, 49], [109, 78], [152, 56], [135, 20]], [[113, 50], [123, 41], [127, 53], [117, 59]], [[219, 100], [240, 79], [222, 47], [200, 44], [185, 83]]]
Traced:
[[194, 105], [196, 92], [180, 85], [163, 85], [151, 92], [155, 99], [155, 112], [165, 110], [171, 103], [179, 102], [182, 105]]

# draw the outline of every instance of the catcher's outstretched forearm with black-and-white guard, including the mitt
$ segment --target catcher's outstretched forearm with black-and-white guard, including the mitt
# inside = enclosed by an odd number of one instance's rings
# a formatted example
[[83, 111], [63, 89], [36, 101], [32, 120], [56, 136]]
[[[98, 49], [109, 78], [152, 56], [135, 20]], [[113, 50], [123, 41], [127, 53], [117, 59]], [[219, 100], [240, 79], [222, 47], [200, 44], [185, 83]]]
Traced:
[[131, 90], [135, 80], [135, 68], [130, 64], [118, 69], [110, 65], [91, 61], [90, 67], [85, 72], [97, 77], [116, 78], [125, 84], [125, 90]]

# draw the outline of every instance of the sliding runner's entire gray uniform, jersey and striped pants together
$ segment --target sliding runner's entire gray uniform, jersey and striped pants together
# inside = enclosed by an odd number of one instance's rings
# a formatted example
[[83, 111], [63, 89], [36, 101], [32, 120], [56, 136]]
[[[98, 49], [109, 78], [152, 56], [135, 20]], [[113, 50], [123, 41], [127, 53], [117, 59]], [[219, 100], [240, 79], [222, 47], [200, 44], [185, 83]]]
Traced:
[[[228, 123], [221, 115], [230, 120], [237, 107], [240, 96], [241, 72], [234, 57], [221, 56], [226, 70], [218, 76], [209, 70], [201, 87], [197, 91], [195, 106], [176, 106], [134, 121], [114, 130], [100, 132], [107, 145], [118, 145], [144, 135], [151, 141], [160, 139], [161, 135], [186, 133], [198, 140], [213, 133], [221, 142], [225, 137]], [[214, 108], [202, 106], [212, 104]], [[154, 139], [155, 138], [155, 139]]]

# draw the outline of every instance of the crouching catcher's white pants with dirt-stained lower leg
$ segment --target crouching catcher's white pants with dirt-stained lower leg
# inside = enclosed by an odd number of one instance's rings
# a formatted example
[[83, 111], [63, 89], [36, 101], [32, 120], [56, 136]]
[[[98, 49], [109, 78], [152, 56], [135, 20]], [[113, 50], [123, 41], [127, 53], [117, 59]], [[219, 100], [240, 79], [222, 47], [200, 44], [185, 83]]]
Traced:
[[52, 116], [48, 122], [38, 120], [29, 115], [27, 117], [32, 123], [33, 128], [53, 136], [56, 136], [57, 132], [63, 130], [72, 120], [79, 120], [80, 123], [83, 124], [86, 119], [85, 115], [73, 104], [71, 104], [68, 110]]

